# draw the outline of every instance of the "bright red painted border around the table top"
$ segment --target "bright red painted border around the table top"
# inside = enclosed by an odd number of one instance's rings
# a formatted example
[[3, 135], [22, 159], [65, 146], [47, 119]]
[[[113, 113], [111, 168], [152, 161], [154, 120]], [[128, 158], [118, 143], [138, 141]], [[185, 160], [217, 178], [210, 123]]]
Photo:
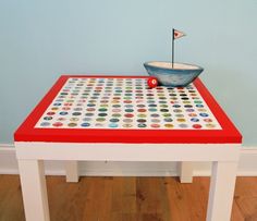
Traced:
[[14, 133], [15, 142], [241, 144], [242, 135], [199, 78], [194, 84], [222, 130], [34, 128], [69, 77], [147, 78], [147, 76], [62, 75]]

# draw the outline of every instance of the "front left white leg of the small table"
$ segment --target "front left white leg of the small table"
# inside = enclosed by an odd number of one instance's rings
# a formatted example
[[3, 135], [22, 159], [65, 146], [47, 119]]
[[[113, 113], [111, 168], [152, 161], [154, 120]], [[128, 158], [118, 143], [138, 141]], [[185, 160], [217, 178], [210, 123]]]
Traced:
[[42, 160], [19, 160], [26, 221], [49, 221]]

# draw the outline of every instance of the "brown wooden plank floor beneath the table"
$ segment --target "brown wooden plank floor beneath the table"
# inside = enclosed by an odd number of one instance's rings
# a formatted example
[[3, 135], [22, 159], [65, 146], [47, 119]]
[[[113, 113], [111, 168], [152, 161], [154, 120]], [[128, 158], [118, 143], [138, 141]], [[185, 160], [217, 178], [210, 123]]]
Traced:
[[[206, 218], [209, 179], [194, 177], [47, 177], [51, 221], [201, 221]], [[23, 221], [17, 175], [0, 175], [0, 221]], [[233, 221], [257, 221], [257, 177], [237, 177]]]

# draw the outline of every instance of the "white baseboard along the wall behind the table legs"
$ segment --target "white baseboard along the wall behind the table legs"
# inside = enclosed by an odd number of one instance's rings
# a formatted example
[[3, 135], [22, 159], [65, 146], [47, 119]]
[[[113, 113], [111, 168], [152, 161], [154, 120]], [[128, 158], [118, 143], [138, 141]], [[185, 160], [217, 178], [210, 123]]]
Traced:
[[[238, 176], [257, 176], [257, 147], [241, 150]], [[46, 161], [46, 174], [64, 175], [62, 161]], [[0, 174], [19, 174], [15, 149], [0, 144]], [[103, 176], [178, 176], [176, 162], [79, 162], [79, 175]], [[209, 176], [210, 163], [194, 163], [194, 176]]]

